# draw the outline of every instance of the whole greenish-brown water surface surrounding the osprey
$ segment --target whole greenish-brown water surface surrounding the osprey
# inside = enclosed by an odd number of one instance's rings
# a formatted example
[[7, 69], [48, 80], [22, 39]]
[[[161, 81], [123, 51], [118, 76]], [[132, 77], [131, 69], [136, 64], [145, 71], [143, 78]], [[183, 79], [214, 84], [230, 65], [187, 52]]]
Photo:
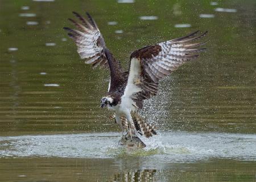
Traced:
[[[0, 0], [0, 181], [255, 181], [256, 2], [210, 3]], [[24, 6], [29, 9], [22, 10]], [[218, 7], [236, 12], [214, 11]], [[62, 29], [72, 27], [67, 20], [73, 18], [72, 11], [90, 12], [106, 45], [126, 68], [135, 49], [197, 29], [209, 31], [207, 52], [164, 79], [159, 95], [145, 103], [143, 115], [156, 125], [156, 141], [165, 142], [163, 152], [149, 141], [152, 150], [146, 156], [108, 154], [122, 152], [111, 150], [118, 127], [109, 121], [110, 112], [100, 108], [109, 73], [92, 70], [80, 60]], [[24, 13], [32, 17], [20, 15]], [[108, 24], [113, 21], [117, 24]], [[115, 33], [119, 30], [123, 33]], [[178, 132], [180, 139], [171, 140], [164, 132]], [[81, 141], [69, 148], [81, 139], [77, 133], [97, 133], [90, 138], [95, 143], [85, 141], [83, 148]], [[109, 142], [97, 140], [101, 133]], [[190, 133], [196, 133], [191, 146]], [[44, 134], [53, 139], [34, 138]], [[68, 143], [61, 139], [72, 138], [70, 134], [75, 136]], [[32, 137], [24, 139], [27, 135]], [[54, 143], [57, 151], [52, 150]], [[166, 153], [170, 149], [174, 151]]]

